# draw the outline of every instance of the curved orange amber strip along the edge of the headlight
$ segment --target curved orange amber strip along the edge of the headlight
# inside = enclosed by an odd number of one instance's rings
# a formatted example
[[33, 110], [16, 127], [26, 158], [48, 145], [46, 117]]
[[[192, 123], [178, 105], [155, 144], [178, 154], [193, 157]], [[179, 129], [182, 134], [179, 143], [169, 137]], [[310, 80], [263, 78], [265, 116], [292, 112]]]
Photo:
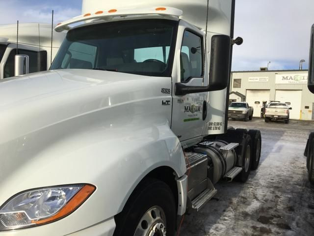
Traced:
[[73, 211], [75, 211], [80, 205], [82, 205], [89, 197], [92, 195], [92, 193], [95, 191], [96, 187], [93, 185], [86, 184], [84, 185], [76, 195], [73, 196], [73, 198], [55, 215], [52, 217], [49, 217], [47, 219], [43, 220], [32, 220], [31, 223], [36, 225], [41, 224], [47, 224], [52, 221], [58, 220], [60, 218], [63, 218], [69, 214], [71, 214]]

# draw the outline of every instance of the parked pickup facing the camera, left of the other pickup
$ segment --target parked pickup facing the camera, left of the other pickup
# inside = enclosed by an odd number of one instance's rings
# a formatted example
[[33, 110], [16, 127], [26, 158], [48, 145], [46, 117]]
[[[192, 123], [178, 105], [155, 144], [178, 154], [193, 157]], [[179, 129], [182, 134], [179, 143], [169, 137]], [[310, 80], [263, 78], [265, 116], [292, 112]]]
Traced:
[[250, 107], [247, 102], [232, 102], [228, 109], [228, 118], [243, 119], [244, 121], [253, 118], [254, 108]]

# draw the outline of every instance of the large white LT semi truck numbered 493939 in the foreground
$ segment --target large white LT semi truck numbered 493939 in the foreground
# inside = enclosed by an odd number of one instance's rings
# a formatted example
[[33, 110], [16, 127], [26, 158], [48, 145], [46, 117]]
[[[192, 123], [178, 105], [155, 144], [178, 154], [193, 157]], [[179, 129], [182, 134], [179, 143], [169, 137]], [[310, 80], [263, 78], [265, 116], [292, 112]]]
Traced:
[[227, 129], [234, 12], [83, 1], [51, 70], [0, 83], [0, 236], [174, 236], [245, 182], [261, 133]]

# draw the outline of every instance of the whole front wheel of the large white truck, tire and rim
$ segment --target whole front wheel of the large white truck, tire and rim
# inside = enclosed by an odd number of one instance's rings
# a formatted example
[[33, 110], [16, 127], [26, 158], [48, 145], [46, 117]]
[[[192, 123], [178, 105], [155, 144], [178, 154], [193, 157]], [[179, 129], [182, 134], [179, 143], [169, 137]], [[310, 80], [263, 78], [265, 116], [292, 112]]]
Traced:
[[114, 236], [173, 236], [176, 204], [171, 189], [160, 180], [144, 180], [115, 221]]

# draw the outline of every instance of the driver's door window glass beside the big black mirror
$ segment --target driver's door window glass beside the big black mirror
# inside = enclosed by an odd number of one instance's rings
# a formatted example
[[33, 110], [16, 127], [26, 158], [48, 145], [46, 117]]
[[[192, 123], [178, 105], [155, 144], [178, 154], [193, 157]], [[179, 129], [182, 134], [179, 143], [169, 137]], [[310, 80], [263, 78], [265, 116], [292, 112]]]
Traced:
[[192, 77], [203, 76], [203, 40], [202, 37], [185, 30], [181, 47], [181, 83]]

